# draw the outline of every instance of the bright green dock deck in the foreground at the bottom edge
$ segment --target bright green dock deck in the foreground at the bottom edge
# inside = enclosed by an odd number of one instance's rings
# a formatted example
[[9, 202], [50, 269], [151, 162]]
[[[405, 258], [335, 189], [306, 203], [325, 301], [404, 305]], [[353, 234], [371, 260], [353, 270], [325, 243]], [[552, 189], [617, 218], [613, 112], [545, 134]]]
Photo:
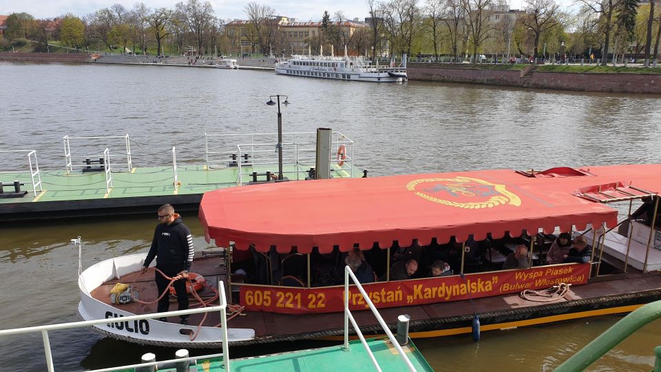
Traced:
[[[382, 371], [406, 371], [406, 364], [401, 359], [395, 347], [389, 340], [384, 338], [373, 338], [367, 340], [370, 350], [379, 363]], [[411, 364], [416, 371], [433, 371], [415, 344], [410, 342], [402, 347], [407, 354]], [[224, 371], [222, 358], [210, 360], [197, 360], [197, 365], [202, 366], [204, 371]], [[254, 358], [233, 359], [230, 361], [232, 371], [242, 372], [269, 372], [269, 371], [364, 371], [371, 369], [372, 361], [366, 349], [359, 340], [350, 341], [349, 349], [344, 350], [342, 345], [336, 347], [324, 347], [321, 349], [308, 349], [263, 355]], [[128, 372], [132, 370], [122, 370]], [[174, 372], [175, 369], [159, 369], [163, 372]], [[120, 372], [120, 371], [117, 371]]]

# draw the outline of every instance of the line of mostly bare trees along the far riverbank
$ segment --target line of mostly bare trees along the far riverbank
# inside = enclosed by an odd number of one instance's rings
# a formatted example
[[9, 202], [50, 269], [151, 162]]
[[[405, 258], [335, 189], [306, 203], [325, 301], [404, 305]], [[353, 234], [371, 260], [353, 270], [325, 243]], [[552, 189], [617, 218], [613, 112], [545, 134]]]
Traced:
[[[361, 54], [450, 56], [454, 61], [490, 56], [564, 54], [643, 56], [658, 58], [661, 10], [655, 0], [575, 0], [578, 12], [562, 10], [555, 0], [525, 0], [523, 10], [509, 10], [504, 0], [366, 0], [365, 27], [347, 32], [341, 25], [344, 12], [322, 14], [322, 27], [306, 38], [315, 52], [324, 45], [341, 50], [344, 45]], [[1, 45], [27, 39], [34, 50], [48, 52], [50, 41], [83, 50], [117, 50], [156, 54], [225, 53], [240, 43], [251, 42], [253, 52], [287, 50], [276, 12], [251, 2], [244, 7], [246, 32], [231, 33], [229, 20], [216, 17], [209, 1], [187, 0], [174, 8], [149, 8], [120, 4], [76, 17], [34, 19], [21, 12], [11, 14]], [[327, 52], [330, 52], [326, 49]]]

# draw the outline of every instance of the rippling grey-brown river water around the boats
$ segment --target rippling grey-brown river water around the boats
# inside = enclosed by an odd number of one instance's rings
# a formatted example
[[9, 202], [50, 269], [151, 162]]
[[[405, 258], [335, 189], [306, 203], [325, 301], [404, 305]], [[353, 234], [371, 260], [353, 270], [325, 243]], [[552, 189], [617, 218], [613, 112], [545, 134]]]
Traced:
[[[204, 132], [275, 132], [285, 94], [286, 132], [331, 127], [352, 138], [355, 164], [370, 176], [461, 169], [659, 163], [658, 96], [587, 94], [409, 81], [397, 85], [277, 76], [273, 72], [155, 66], [0, 63], [0, 149], [36, 149], [43, 169], [63, 169], [62, 136], [128, 133], [134, 166], [202, 163]], [[286, 139], [286, 138], [285, 138]], [[0, 157], [0, 171], [15, 164]], [[207, 245], [196, 216], [183, 216]], [[77, 319], [78, 254], [83, 266], [149, 245], [147, 217], [49, 221], [0, 226], [0, 329]], [[556, 366], [617, 316], [417, 340], [437, 370], [542, 371]], [[592, 371], [649, 371], [661, 344], [653, 322], [594, 364]], [[51, 335], [56, 371], [137, 362], [156, 351], [87, 329]], [[319, 342], [319, 346], [328, 343]], [[311, 347], [311, 342], [231, 348], [234, 357]], [[207, 353], [213, 351], [204, 351]], [[38, 334], [0, 338], [1, 371], [43, 371]]]

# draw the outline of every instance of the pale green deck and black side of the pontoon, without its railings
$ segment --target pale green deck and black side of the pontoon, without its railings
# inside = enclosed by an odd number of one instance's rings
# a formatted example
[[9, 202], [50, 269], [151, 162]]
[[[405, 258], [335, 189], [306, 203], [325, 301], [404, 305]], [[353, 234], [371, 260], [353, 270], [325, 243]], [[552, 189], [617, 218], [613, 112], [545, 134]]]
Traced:
[[[290, 180], [304, 179], [314, 164], [284, 165], [284, 176]], [[351, 169], [333, 164], [332, 176], [350, 177]], [[249, 174], [258, 172], [258, 180], [266, 180], [266, 172], [277, 173], [275, 165], [242, 165], [242, 185], [249, 185]], [[354, 174], [358, 176], [358, 174]], [[29, 190], [20, 198], [0, 198], [0, 221], [41, 219], [65, 216], [103, 214], [131, 214], [153, 211], [165, 203], [178, 209], [197, 209], [202, 194], [214, 189], [235, 187], [239, 182], [238, 167], [180, 165], [177, 167], [180, 185], [174, 185], [172, 167], [134, 167], [130, 172], [112, 172], [112, 188], [106, 187], [105, 172], [65, 171], [41, 172], [43, 191], [32, 192], [30, 174], [13, 174], [3, 178], [4, 193], [14, 191], [9, 181], [25, 183], [21, 190]], [[1, 195], [1, 194], [0, 194]]]

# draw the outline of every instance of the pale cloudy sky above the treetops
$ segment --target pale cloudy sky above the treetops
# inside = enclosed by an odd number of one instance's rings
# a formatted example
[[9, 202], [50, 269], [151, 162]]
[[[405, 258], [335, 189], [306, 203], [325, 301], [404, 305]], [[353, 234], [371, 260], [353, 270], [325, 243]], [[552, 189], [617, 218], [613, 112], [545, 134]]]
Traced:
[[[149, 8], [173, 8], [176, 3], [185, 0], [143, 0]], [[229, 1], [209, 0], [216, 17], [221, 19], [246, 19], [244, 6], [250, 0]], [[257, 1], [274, 8], [278, 15], [293, 17], [297, 21], [319, 21], [324, 10], [328, 10], [330, 16], [338, 10], [342, 10], [347, 19], [358, 18], [364, 20], [368, 14], [366, 0], [271, 0]], [[424, 3], [425, 0], [419, 0]], [[571, 6], [573, 0], [556, 0], [563, 8]], [[115, 3], [120, 3], [130, 9], [138, 0], [0, 0], [0, 14], [9, 15], [13, 12], [27, 12], [35, 18], [54, 18], [67, 13], [73, 13], [78, 17], [96, 12], [96, 10], [108, 8]], [[521, 9], [521, 0], [510, 0], [510, 8]]]

